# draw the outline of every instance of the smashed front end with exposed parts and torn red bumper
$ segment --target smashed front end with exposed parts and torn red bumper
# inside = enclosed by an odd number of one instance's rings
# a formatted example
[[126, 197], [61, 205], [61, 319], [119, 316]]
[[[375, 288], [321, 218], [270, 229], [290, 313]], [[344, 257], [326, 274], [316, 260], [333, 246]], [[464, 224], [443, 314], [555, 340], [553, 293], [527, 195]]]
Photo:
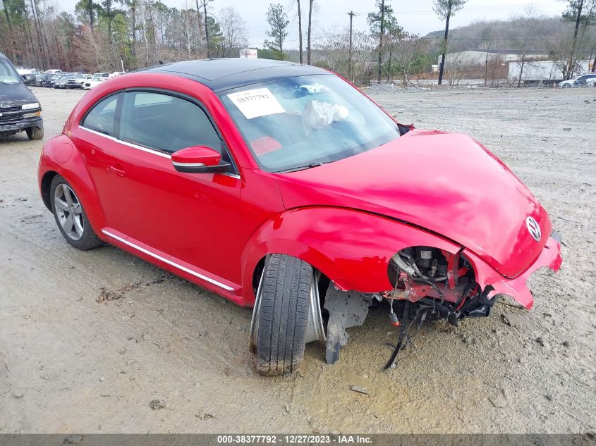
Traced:
[[[367, 295], [342, 292], [330, 284], [324, 304], [329, 311], [327, 362], [333, 364], [339, 359], [339, 349], [348, 340], [345, 328], [362, 325], [375, 298], [389, 302], [389, 322], [399, 330], [386, 369], [394, 367], [412, 328], [418, 330], [425, 321], [444, 318], [458, 326], [467, 317], [489, 316], [499, 295], [507, 295], [529, 310], [533, 298], [525, 283], [539, 268], [559, 271], [560, 242], [560, 235], [553, 232], [537, 259], [515, 278], [506, 278], [463, 247], [454, 254], [435, 247], [413, 246], [401, 249], [389, 261], [391, 290]], [[401, 302], [401, 316], [394, 311], [394, 301]]]

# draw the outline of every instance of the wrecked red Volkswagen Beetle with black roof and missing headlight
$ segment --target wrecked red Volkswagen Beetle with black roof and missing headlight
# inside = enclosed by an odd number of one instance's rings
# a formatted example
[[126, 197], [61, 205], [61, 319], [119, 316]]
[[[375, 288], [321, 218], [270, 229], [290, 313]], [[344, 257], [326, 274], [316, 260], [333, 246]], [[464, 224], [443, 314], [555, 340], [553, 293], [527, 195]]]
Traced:
[[391, 303], [396, 354], [415, 320], [487, 316], [501, 294], [530, 309], [528, 276], [561, 265], [547, 212], [485, 147], [400, 125], [296, 63], [107, 80], [45, 144], [39, 187], [74, 247], [114, 244], [254, 307], [268, 375], [295, 370], [313, 340], [335, 361], [372, 299]]

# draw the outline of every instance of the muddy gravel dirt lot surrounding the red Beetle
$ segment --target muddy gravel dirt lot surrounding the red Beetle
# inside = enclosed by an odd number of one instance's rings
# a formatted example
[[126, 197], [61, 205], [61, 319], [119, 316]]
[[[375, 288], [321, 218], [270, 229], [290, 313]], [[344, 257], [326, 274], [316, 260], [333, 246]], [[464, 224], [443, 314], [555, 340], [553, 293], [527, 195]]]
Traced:
[[[35, 93], [47, 138], [83, 96]], [[248, 309], [114, 247], [63, 241], [37, 191], [42, 144], [20, 134], [0, 142], [0, 433], [596, 430], [596, 89], [371, 94], [402, 123], [484, 142], [545, 205], [564, 264], [530, 279], [532, 311], [499, 303], [437, 323], [389, 373], [396, 333], [375, 311], [336, 365], [309, 345], [299, 374], [262, 378]]]

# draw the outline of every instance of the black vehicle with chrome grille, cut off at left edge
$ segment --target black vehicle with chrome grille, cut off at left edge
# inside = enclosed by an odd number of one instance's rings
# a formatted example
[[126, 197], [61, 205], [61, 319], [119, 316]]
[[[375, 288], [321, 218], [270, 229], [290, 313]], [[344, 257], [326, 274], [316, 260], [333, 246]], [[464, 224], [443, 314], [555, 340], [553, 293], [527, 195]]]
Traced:
[[44, 137], [42, 107], [25, 86], [25, 82], [35, 81], [32, 74], [20, 77], [11, 61], [0, 53], [0, 136], [27, 132], [30, 140]]

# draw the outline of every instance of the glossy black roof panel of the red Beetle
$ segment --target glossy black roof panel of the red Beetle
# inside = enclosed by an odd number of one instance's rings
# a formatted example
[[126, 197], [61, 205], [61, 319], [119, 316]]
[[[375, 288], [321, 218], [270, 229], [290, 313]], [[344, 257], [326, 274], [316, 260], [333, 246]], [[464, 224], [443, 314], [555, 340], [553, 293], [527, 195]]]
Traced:
[[322, 68], [269, 59], [217, 58], [165, 63], [145, 68], [150, 73], [167, 73], [200, 82], [214, 92], [256, 82], [303, 75], [331, 74]]

